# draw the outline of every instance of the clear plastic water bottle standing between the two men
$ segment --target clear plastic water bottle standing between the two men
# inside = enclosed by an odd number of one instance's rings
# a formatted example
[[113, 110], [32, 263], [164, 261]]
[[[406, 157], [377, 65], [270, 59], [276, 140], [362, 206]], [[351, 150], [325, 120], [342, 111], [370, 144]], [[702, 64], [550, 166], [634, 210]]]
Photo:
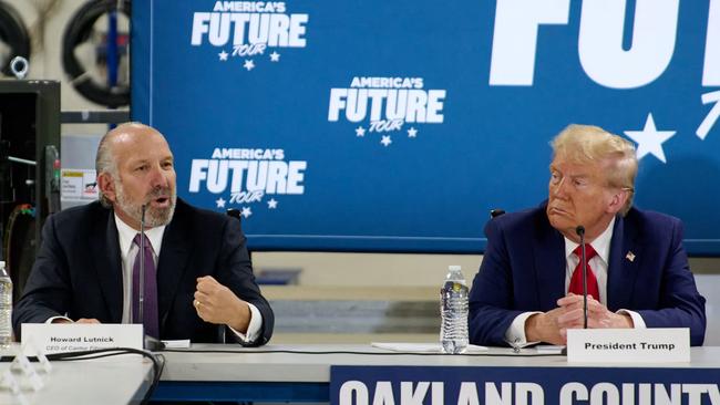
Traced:
[[463, 353], [467, 349], [467, 283], [460, 266], [448, 267], [445, 283], [440, 290], [440, 343], [445, 353]]

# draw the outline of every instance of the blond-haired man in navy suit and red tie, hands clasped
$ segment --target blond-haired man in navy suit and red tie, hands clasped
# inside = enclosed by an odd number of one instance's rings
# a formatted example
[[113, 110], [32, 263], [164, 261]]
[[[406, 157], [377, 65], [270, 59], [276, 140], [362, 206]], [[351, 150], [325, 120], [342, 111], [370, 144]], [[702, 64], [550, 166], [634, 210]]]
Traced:
[[567, 329], [583, 328], [584, 231], [588, 328], [689, 328], [691, 344], [701, 345], [704, 298], [682, 224], [632, 207], [632, 144], [570, 125], [552, 146], [548, 199], [485, 226], [487, 248], [470, 293], [471, 343], [564, 344]]

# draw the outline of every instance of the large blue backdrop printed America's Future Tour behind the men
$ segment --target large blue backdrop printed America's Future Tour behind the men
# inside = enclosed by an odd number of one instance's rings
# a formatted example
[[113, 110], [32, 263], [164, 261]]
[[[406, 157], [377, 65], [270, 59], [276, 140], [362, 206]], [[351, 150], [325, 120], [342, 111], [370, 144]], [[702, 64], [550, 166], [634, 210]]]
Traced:
[[134, 120], [253, 249], [482, 251], [587, 123], [720, 255], [720, 0], [137, 0], [132, 41]]

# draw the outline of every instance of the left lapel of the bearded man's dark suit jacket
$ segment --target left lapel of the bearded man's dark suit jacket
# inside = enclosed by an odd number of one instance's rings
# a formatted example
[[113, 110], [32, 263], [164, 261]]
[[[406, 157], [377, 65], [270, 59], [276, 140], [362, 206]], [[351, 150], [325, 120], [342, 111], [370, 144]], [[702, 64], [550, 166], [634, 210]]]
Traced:
[[93, 264], [110, 312], [110, 321], [120, 323], [123, 318], [123, 270], [117, 227], [112, 210], [107, 210], [107, 220], [104, 227], [102, 224], [102, 221], [99, 222], [99, 229], [95, 232], [97, 237], [90, 241]]

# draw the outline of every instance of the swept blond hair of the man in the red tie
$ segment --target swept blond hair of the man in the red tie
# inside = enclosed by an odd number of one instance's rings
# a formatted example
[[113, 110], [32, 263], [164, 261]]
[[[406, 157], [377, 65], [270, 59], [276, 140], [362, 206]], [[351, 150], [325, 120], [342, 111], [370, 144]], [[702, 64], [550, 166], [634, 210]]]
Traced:
[[632, 143], [599, 126], [570, 124], [551, 142], [551, 146], [553, 159], [560, 156], [575, 164], [606, 164], [607, 186], [628, 193], [620, 214], [625, 216], [630, 210], [638, 173], [638, 159]]

